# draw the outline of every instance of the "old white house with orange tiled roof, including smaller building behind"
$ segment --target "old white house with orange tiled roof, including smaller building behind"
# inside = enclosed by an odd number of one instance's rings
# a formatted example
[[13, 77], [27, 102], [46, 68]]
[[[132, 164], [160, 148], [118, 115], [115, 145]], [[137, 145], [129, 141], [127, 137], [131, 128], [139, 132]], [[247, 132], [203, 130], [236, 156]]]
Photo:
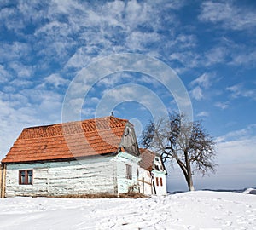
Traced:
[[144, 154], [133, 125], [113, 116], [26, 128], [2, 160], [1, 197], [119, 194], [131, 188], [166, 194], [159, 157], [147, 170], [140, 166]]

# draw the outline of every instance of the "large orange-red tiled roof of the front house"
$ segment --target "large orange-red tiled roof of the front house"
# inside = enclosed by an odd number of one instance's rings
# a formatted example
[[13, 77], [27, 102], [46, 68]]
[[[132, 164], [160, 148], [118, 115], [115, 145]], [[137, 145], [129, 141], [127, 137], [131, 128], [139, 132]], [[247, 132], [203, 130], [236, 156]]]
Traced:
[[106, 117], [23, 129], [2, 163], [117, 152], [128, 120]]

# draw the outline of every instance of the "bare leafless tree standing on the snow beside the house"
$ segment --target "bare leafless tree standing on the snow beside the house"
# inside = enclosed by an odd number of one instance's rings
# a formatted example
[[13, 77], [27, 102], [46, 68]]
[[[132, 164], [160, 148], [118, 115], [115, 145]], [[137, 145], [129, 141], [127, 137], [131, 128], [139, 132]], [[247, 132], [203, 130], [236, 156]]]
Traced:
[[150, 121], [143, 130], [141, 144], [159, 152], [164, 161], [175, 160], [183, 170], [189, 191], [195, 190], [192, 178], [195, 171], [206, 175], [217, 166], [212, 136], [202, 128], [201, 122], [190, 122], [184, 115], [175, 113], [156, 124]]

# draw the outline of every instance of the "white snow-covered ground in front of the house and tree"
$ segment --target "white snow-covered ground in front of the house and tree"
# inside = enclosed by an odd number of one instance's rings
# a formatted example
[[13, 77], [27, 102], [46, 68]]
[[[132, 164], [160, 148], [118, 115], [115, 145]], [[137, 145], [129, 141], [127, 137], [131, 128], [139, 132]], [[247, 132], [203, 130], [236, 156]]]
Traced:
[[256, 196], [196, 191], [138, 199], [5, 198], [0, 229], [251, 230]]

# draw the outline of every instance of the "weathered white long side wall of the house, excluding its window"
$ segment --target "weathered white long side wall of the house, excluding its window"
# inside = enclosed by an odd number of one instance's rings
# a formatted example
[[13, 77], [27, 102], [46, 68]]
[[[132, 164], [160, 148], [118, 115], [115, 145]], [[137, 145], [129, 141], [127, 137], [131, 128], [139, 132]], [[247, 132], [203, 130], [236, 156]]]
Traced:
[[[117, 162], [110, 157], [79, 161], [8, 164], [6, 197], [117, 193]], [[33, 170], [33, 184], [19, 185], [19, 170]]]

